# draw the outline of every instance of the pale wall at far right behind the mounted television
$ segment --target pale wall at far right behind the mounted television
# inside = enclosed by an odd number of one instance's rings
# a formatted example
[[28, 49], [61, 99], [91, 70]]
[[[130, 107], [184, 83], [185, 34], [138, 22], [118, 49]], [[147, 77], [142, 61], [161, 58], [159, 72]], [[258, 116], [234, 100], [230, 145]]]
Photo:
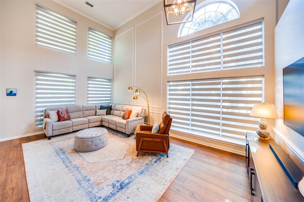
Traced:
[[284, 125], [282, 69], [304, 56], [304, 1], [291, 0], [275, 27], [275, 140], [304, 169], [304, 137]]

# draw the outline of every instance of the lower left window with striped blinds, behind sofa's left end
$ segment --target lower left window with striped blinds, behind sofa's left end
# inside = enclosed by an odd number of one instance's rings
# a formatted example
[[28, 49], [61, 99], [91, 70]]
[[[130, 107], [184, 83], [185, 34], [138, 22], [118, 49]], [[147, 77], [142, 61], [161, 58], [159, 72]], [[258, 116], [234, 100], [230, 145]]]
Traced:
[[43, 109], [76, 103], [76, 75], [36, 70], [36, 127], [43, 123]]

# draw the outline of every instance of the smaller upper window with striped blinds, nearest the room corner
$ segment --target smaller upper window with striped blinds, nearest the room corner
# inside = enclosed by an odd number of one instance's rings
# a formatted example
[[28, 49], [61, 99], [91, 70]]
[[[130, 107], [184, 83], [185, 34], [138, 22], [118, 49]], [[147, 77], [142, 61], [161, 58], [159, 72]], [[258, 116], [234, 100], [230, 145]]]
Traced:
[[89, 27], [88, 57], [112, 62], [112, 37]]

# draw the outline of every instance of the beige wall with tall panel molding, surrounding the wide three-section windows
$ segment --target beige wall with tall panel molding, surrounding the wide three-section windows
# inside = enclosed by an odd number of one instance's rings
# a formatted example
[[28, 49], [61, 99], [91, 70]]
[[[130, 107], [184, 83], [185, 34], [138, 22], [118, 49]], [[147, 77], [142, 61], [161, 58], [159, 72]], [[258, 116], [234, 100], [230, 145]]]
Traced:
[[[197, 1], [199, 4], [202, 1]], [[114, 97], [116, 100], [121, 100], [116, 92], [122, 91], [121, 89], [127, 88], [131, 81], [136, 86], [142, 87], [148, 94], [150, 101], [150, 117], [151, 122], [161, 121], [161, 113], [167, 110], [167, 81], [185, 80], [185, 79], [203, 79], [203, 78], [218, 78], [229, 76], [250, 76], [250, 75], [265, 75], [265, 103], [274, 103], [274, 41], [273, 30], [276, 22], [276, 2], [275, 0], [252, 0], [252, 1], [233, 1], [240, 11], [240, 18], [226, 22], [199, 32], [192, 33], [183, 37], [178, 36], [178, 29], [180, 25], [167, 25], [163, 2], [158, 3], [147, 11], [143, 12], [136, 18], [130, 20], [123, 26], [114, 31], [116, 40], [116, 52], [133, 50], [133, 54], [129, 53], [132, 57], [128, 59], [128, 64], [125, 66], [124, 71], [128, 72], [130, 80], [121, 82], [118, 77], [123, 77], [125, 72], [115, 72], [115, 89]], [[159, 17], [161, 16], [161, 19]], [[226, 29], [234, 25], [250, 22], [252, 20], [264, 17], [265, 25], [265, 66], [251, 67], [244, 69], [230, 69], [212, 72], [201, 72], [195, 74], [173, 75], [167, 76], [167, 48], [168, 45], [199, 37], [209, 34], [221, 29]], [[161, 22], [160, 22], [161, 21]], [[162, 26], [160, 26], [162, 23]], [[150, 29], [150, 30], [149, 30]], [[129, 31], [128, 31], [129, 30]], [[151, 36], [150, 31], [153, 33]], [[119, 37], [124, 37], [125, 41], [118, 41]], [[127, 45], [128, 44], [128, 45]], [[136, 48], [135, 48], [136, 47]], [[162, 61], [159, 62], [160, 53], [162, 53]], [[116, 61], [118, 60], [116, 55]], [[138, 62], [140, 60], [140, 62]], [[116, 62], [116, 68], [123, 65], [123, 62]], [[162, 72], [161, 75], [155, 72]], [[132, 77], [130, 76], [132, 73]], [[132, 79], [132, 80], [131, 80]], [[127, 91], [126, 91], [127, 92]], [[161, 92], [161, 95], [158, 93]], [[124, 96], [132, 96], [129, 92]], [[127, 98], [128, 102], [130, 99]], [[161, 100], [161, 104], [159, 101]], [[133, 104], [144, 105], [143, 100], [133, 101]], [[147, 119], [146, 119], [147, 121]], [[268, 120], [269, 127], [273, 127], [274, 121]], [[173, 134], [173, 132], [172, 132]], [[204, 140], [203, 140], [204, 141]], [[229, 146], [229, 145], [228, 145]], [[241, 148], [243, 151], [244, 149]]]

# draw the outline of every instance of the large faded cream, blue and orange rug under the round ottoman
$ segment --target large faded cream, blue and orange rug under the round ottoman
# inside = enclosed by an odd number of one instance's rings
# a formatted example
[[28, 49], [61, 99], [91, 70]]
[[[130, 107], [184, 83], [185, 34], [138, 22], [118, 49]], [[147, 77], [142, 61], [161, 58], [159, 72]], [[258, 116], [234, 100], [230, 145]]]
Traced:
[[134, 137], [106, 128], [104, 148], [78, 153], [70, 133], [22, 144], [31, 201], [157, 201], [194, 150], [170, 143], [169, 158], [141, 152]]

